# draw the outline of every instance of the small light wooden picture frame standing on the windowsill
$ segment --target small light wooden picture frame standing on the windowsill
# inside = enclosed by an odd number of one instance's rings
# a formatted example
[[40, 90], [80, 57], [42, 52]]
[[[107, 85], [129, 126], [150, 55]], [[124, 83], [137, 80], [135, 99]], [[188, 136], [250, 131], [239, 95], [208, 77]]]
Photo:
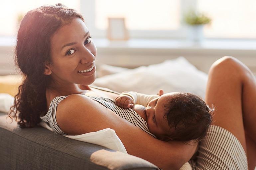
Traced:
[[125, 26], [125, 18], [108, 18], [109, 40], [128, 40], [128, 30]]

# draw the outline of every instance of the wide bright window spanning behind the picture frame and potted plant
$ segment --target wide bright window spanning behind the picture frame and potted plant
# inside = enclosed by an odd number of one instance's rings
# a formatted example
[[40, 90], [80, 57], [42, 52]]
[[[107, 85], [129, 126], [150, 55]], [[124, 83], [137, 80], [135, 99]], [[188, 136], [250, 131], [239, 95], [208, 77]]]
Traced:
[[183, 15], [207, 14], [206, 38], [256, 38], [255, 0], [83, 0], [81, 12], [94, 37], [106, 37], [107, 18], [125, 17], [130, 37], [186, 38]]

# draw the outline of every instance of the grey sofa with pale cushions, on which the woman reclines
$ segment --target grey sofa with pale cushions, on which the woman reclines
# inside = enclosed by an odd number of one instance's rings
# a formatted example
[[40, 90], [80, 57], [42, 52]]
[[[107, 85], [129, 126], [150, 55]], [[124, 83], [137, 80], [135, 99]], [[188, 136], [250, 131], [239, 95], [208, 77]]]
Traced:
[[[97, 74], [102, 77], [97, 78], [93, 85], [118, 92], [156, 94], [162, 88], [165, 92], [192, 92], [203, 98], [207, 81], [207, 74], [197, 70], [184, 57], [135, 69], [109, 65], [102, 65], [97, 69]], [[12, 91], [4, 91], [3, 86], [6, 84], [0, 84], [0, 170], [159, 169], [144, 159], [104, 145], [55, 134], [42, 125], [19, 128], [14, 120], [8, 118], [6, 112], [13, 102], [13, 95], [17, 92], [21, 79], [13, 76], [9, 81], [15, 82], [7, 84]], [[188, 163], [182, 167], [182, 170], [190, 169]]]

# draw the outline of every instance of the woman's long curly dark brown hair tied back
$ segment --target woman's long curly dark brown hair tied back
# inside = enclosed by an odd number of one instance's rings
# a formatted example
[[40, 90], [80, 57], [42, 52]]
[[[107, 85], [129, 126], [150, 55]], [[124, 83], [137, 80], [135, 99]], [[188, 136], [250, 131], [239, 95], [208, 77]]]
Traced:
[[63, 4], [41, 6], [23, 18], [17, 35], [15, 62], [22, 72], [23, 84], [15, 95], [8, 113], [21, 128], [35, 127], [47, 112], [46, 88], [50, 76], [45, 65], [50, 63], [51, 37], [74, 18], [84, 21], [81, 14]]

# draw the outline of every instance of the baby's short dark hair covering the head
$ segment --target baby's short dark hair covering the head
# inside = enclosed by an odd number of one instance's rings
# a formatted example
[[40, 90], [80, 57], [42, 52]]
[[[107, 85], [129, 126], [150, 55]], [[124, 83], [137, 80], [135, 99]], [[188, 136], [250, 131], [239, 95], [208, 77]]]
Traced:
[[214, 108], [209, 108], [200, 97], [191, 93], [177, 93], [166, 103], [165, 117], [172, 132], [169, 139], [198, 142], [205, 137]]

